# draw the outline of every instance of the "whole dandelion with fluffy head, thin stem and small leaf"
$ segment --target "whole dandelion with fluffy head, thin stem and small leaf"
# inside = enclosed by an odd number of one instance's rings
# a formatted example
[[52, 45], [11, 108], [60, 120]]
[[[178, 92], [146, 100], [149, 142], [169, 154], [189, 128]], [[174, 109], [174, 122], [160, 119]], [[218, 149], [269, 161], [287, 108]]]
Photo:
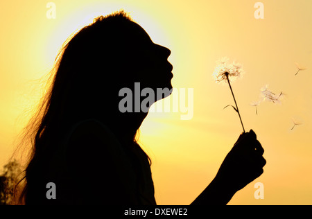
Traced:
[[[236, 99], [232, 90], [232, 86], [230, 82], [236, 80], [236, 78], [240, 78], [243, 73], [243, 66], [237, 62], [228, 63], [229, 58], [224, 57], [218, 60], [217, 66], [214, 69], [214, 80], [216, 82], [227, 82], [229, 84], [229, 89], [231, 89], [232, 96], [234, 98], [234, 103], [236, 107], [233, 105], [227, 105], [226, 107], [232, 106], [233, 109], [239, 114], [239, 119], [241, 120], [241, 114], [239, 113], [239, 107], [237, 106]], [[226, 108], [224, 107], [224, 109]], [[243, 132], [245, 133], [245, 128], [243, 125], [243, 121], [241, 120], [241, 125], [243, 127]]]

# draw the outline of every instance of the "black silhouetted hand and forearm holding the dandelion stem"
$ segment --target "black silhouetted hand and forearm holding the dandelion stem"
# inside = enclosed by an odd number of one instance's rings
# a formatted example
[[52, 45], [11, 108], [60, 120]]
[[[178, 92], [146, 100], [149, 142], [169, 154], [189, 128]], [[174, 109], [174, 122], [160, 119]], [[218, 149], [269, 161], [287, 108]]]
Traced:
[[263, 173], [266, 159], [256, 134], [241, 134], [211, 184], [191, 204], [227, 204], [233, 195]]

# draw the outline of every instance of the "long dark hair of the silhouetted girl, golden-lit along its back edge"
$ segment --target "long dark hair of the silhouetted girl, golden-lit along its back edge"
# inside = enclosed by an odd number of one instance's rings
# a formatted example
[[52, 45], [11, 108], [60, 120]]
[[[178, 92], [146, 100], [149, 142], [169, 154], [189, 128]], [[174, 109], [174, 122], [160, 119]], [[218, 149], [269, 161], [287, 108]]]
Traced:
[[[135, 22], [123, 11], [97, 17], [62, 46], [50, 87], [24, 132], [24, 142], [30, 141], [32, 148], [20, 201], [27, 202], [28, 190], [44, 171], [48, 155], [55, 152], [55, 145], [74, 123], [103, 112], [107, 125], [114, 122], [110, 115], [119, 110], [118, 91], [133, 81], [128, 54], [132, 39], [127, 36], [133, 25]], [[107, 96], [103, 98], [103, 94]], [[132, 143], [137, 144], [135, 136]]]

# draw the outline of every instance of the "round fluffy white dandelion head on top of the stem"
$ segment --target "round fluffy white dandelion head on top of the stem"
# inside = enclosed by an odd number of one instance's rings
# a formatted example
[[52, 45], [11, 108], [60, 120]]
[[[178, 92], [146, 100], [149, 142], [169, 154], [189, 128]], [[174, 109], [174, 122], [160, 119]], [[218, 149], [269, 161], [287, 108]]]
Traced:
[[217, 61], [217, 65], [212, 76], [216, 82], [227, 82], [227, 78], [230, 82], [233, 82], [237, 78], [241, 78], [243, 73], [242, 64], [238, 62], [229, 63], [229, 58], [223, 57]]

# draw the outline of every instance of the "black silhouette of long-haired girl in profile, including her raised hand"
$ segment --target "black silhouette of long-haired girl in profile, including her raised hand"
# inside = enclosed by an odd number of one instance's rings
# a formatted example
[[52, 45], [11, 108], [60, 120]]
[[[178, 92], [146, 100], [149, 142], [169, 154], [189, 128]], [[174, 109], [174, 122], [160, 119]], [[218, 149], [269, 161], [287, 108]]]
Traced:
[[[171, 89], [170, 54], [123, 11], [96, 18], [63, 46], [27, 132], [33, 150], [25, 204], [156, 204], [150, 159], [135, 141], [147, 113], [122, 113], [119, 91], [134, 91], [135, 82], [141, 89]], [[241, 134], [192, 204], [227, 204], [263, 173], [262, 155], [256, 134]], [[49, 182], [55, 199], [46, 196]]]

